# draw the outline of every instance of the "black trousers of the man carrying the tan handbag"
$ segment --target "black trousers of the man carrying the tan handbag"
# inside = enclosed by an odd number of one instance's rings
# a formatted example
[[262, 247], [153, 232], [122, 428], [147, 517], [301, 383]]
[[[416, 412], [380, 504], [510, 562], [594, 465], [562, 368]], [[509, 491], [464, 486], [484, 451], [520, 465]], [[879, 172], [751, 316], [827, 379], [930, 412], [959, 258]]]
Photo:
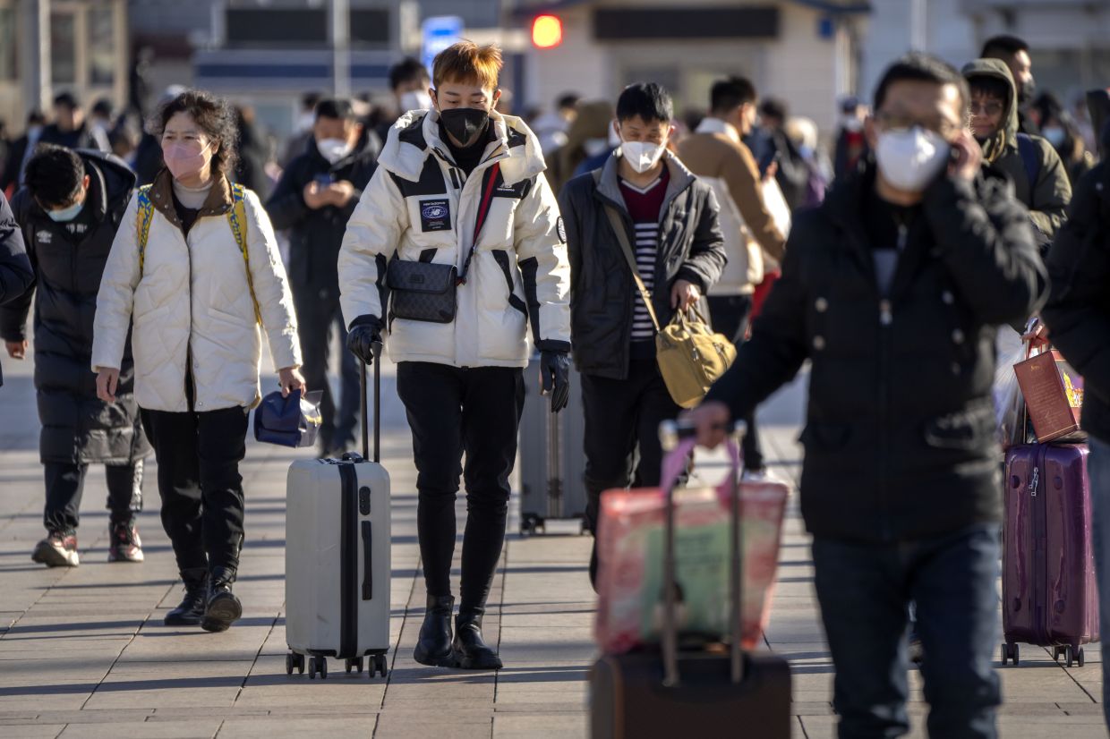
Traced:
[[659, 424], [676, 418], [682, 408], [667, 392], [655, 358], [632, 360], [626, 379], [582, 375], [582, 404], [588, 496], [585, 525], [595, 530], [602, 493], [659, 485]]

